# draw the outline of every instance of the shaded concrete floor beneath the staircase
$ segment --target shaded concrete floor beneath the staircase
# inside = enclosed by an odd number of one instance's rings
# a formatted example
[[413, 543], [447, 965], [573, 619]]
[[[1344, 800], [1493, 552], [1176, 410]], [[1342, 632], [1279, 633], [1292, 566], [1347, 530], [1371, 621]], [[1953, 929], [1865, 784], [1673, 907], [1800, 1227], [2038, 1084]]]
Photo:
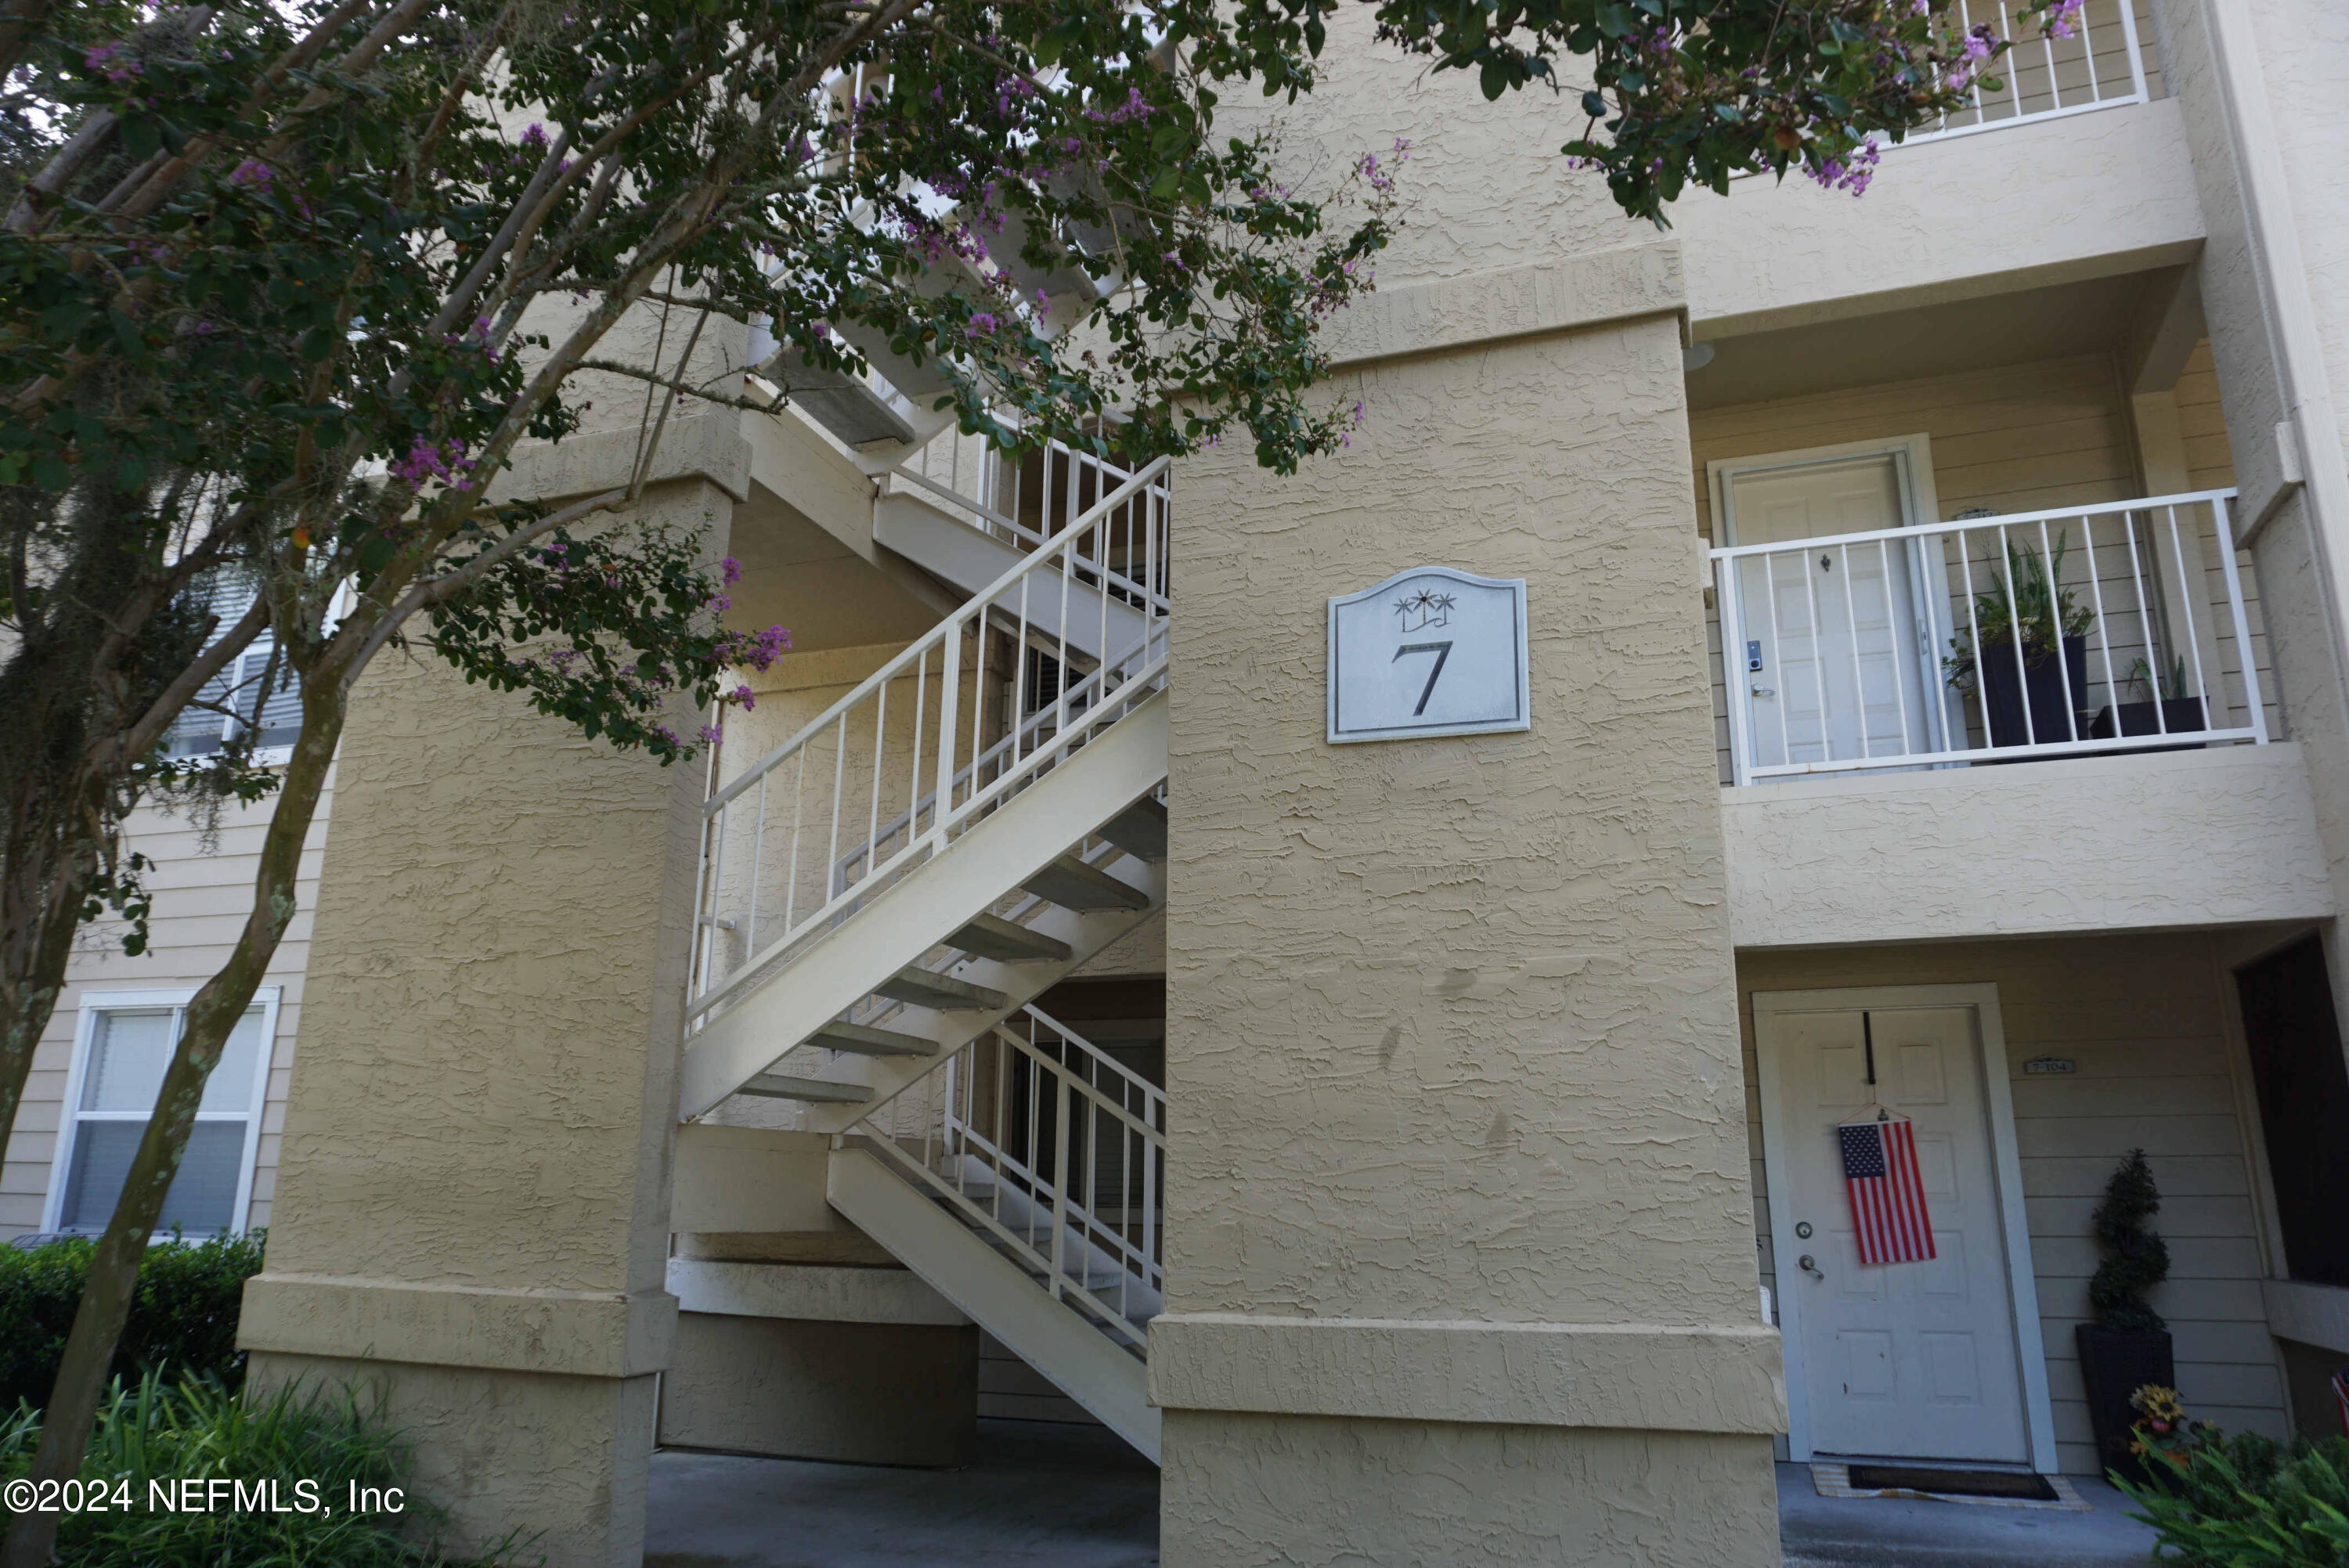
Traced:
[[672, 1448], [644, 1540], [644, 1568], [1156, 1568], [1158, 1467], [1036, 1420], [982, 1420], [970, 1469]]

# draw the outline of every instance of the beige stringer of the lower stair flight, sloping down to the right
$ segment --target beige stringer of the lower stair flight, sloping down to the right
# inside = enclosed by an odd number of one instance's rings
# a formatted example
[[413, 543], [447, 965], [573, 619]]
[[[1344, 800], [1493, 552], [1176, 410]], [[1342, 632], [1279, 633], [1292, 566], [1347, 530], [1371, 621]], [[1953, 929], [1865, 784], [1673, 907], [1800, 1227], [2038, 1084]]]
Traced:
[[1149, 1368], [1073, 1307], [1052, 1300], [1010, 1258], [862, 1148], [832, 1150], [824, 1199], [1052, 1387], [1158, 1462]]

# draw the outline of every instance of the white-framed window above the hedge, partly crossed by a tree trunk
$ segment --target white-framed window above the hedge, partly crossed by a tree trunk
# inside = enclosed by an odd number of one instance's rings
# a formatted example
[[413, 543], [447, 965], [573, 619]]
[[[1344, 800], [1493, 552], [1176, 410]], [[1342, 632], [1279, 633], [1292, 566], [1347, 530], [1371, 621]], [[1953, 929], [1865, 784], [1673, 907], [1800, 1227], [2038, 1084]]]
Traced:
[[[193, 995], [122, 991], [82, 1000], [45, 1230], [106, 1230]], [[277, 988], [263, 986], [204, 1084], [188, 1153], [164, 1197], [157, 1230], [179, 1228], [197, 1237], [244, 1228], [270, 1070], [268, 1045], [275, 1038]]]

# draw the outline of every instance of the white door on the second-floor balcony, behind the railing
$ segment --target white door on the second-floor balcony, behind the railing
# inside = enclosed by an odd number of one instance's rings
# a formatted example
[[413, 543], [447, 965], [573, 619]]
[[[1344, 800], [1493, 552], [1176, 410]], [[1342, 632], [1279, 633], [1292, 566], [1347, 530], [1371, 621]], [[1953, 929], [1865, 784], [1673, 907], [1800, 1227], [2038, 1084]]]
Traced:
[[[1898, 453], [1731, 469], [1729, 542], [1783, 545], [1907, 528]], [[1738, 615], [1755, 763], [1938, 751], [1914, 542], [1741, 556]], [[1741, 657], [1743, 655], [1743, 657]], [[1731, 688], [1736, 690], [1736, 688]]]

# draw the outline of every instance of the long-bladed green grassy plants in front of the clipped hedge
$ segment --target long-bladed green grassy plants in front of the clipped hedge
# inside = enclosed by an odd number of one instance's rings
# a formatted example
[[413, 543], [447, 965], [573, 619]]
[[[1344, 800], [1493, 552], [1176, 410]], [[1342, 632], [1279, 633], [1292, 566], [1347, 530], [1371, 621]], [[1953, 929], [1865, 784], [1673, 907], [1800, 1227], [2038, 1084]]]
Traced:
[[[26, 1474], [40, 1444], [28, 1406], [0, 1422], [0, 1481]], [[282, 1387], [263, 1401], [214, 1378], [120, 1380], [99, 1408], [82, 1460], [85, 1481], [127, 1483], [129, 1507], [82, 1509], [59, 1530], [59, 1556], [75, 1568], [444, 1568], [430, 1542], [437, 1509], [404, 1498], [402, 1512], [352, 1512], [352, 1486], [406, 1486], [409, 1451], [381, 1404], [357, 1390]], [[275, 1481], [282, 1512], [171, 1512], [148, 1507], [148, 1481]], [[296, 1481], [315, 1483], [319, 1507], [303, 1509]], [[514, 1563], [500, 1542], [482, 1568]]]

